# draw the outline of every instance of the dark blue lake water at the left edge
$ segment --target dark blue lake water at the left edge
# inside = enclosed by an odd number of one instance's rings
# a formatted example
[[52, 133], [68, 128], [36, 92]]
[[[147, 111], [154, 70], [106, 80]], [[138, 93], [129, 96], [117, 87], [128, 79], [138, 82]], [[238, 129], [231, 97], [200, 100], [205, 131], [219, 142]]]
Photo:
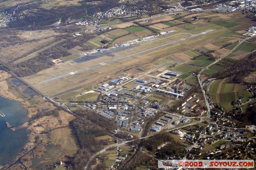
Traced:
[[4, 117], [0, 116], [0, 165], [5, 165], [22, 151], [29, 134], [25, 128], [12, 131], [7, 128], [5, 122], [9, 122], [11, 128], [22, 125], [26, 122], [28, 110], [24, 109], [19, 101], [9, 100], [2, 96], [0, 96], [0, 110], [5, 114]]

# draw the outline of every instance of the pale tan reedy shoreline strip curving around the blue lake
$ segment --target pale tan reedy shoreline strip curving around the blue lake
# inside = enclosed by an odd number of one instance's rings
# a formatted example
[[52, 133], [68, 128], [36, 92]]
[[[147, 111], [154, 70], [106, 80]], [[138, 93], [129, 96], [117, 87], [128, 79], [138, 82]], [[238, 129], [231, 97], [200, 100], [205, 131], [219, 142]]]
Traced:
[[[12, 94], [12, 92], [8, 91], [8, 85], [7, 85], [6, 79], [10, 78], [10, 77], [12, 77], [12, 76], [9, 73], [7, 73], [5, 71], [1, 71], [1, 73], [0, 73], [0, 96], [4, 97], [6, 99], [9, 99], [9, 100], [19, 101], [21, 103], [21, 107], [28, 110], [26, 122], [23, 123], [21, 126], [15, 127], [15, 128], [26, 128], [29, 131], [29, 135], [28, 135], [28, 142], [22, 147], [22, 151], [20, 153], [18, 153], [16, 156], [14, 156], [8, 162], [8, 164], [6, 164], [4, 166], [0, 166], [0, 169], [7, 168], [11, 164], [15, 163], [21, 156], [23, 156], [25, 153], [27, 153], [29, 150], [31, 150], [33, 147], [35, 147], [37, 145], [35, 143], [35, 141], [36, 141], [35, 138], [37, 136], [37, 133], [36, 133], [35, 129], [33, 129], [32, 126], [28, 125], [28, 122], [27, 122], [27, 120], [30, 117], [32, 117], [32, 115], [37, 113], [37, 110], [34, 107], [32, 107], [27, 101], [24, 101], [24, 100], [18, 98], [17, 96]], [[10, 130], [12, 130], [12, 129], [10, 129]]]

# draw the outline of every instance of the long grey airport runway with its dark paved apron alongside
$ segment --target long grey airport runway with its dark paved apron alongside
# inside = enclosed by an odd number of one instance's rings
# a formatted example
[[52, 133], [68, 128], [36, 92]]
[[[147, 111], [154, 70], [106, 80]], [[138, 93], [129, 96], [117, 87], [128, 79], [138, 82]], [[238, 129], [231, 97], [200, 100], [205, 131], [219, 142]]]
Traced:
[[[188, 36], [186, 38], [182, 38], [180, 40], [171, 41], [171, 42], [168, 42], [168, 43], [165, 43], [165, 44], [162, 44], [160, 46], [153, 47], [153, 48], [148, 48], [148, 49], [145, 49], [145, 50], [142, 50], [142, 51], [130, 54], [130, 55], [126, 55], [124, 57], [114, 57], [113, 53], [120, 52], [120, 51], [123, 51], [123, 50], [126, 50], [126, 49], [132, 49], [134, 46], [116, 47], [116, 48], [111, 48], [111, 49], [105, 50], [103, 52], [98, 52], [98, 53], [94, 53], [94, 54], [91, 54], [91, 55], [85, 55], [83, 57], [76, 58], [73, 61], [76, 62], [76, 63], [82, 63], [82, 62], [85, 62], [85, 61], [88, 61], [88, 60], [91, 60], [91, 59], [94, 59], [94, 58], [99, 58], [99, 57], [102, 57], [102, 56], [106, 56], [106, 55], [112, 55], [114, 59], [110, 60], [110, 61], [107, 61], [107, 62], [104, 62], [104, 63], [96, 64], [96, 65], [93, 65], [93, 66], [90, 66], [90, 67], [87, 67], [87, 68], [76, 70], [76, 71], [73, 71], [73, 72], [70, 72], [70, 73], [66, 73], [66, 74], [63, 74], [61, 76], [55, 76], [53, 78], [46, 78], [43, 81], [46, 82], [46, 83], [51, 82], [51, 81], [54, 81], [56, 79], [71, 76], [71, 75], [74, 75], [74, 74], [77, 74], [77, 73], [80, 73], [80, 72], [83, 72], [83, 71], [86, 71], [86, 70], [96, 68], [96, 67], [101, 66], [101, 65], [112, 63], [112, 62], [115, 62], [117, 60], [122, 60], [122, 59], [127, 58], [127, 57], [131, 57], [131, 56], [138, 55], [138, 54], [141, 54], [141, 53], [144, 53], [144, 52], [147, 52], [147, 51], [151, 51], [151, 50], [154, 50], [156, 48], [160, 48], [160, 47], [164, 47], [164, 46], [167, 46], [167, 45], [170, 45], [170, 44], [175, 44], [175, 43], [178, 43], [178, 42], [181, 42], [181, 41], [185, 41], [185, 40], [188, 40], [190, 38], [193, 38], [193, 37], [196, 37], [196, 36], [199, 36], [199, 35], [203, 35], [203, 34], [206, 34], [206, 33], [212, 32], [212, 31], [214, 31], [214, 30], [207, 30], [207, 31], [204, 31], [204, 32], [199, 33], [199, 34], [179, 33], [179, 34], [189, 34], [190, 36]], [[179, 35], [179, 34], [175, 34], [175, 35]], [[175, 35], [173, 35], [173, 36], [175, 36]], [[159, 40], [155, 40], [155, 41], [159, 41]], [[155, 41], [152, 41], [152, 42], [155, 42]]]

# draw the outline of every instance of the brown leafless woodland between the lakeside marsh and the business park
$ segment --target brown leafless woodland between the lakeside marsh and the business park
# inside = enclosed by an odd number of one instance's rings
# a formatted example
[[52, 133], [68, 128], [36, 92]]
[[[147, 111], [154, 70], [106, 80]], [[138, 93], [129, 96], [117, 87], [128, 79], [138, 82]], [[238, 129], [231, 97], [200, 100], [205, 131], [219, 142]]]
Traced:
[[74, 119], [70, 125], [81, 149], [72, 160], [72, 165], [74, 169], [83, 169], [88, 159], [108, 144], [108, 140], [99, 141], [96, 140], [96, 137], [108, 135], [116, 125], [93, 111], [78, 109], [76, 114], [80, 116]]

